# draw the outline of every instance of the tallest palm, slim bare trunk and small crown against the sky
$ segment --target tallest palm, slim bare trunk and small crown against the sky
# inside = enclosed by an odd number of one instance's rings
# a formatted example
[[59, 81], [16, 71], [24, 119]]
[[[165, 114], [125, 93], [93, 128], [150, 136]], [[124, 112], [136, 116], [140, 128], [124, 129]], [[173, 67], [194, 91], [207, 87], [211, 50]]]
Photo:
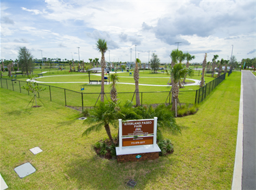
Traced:
[[101, 60], [100, 60], [100, 66], [101, 66], [101, 96], [100, 101], [104, 101], [104, 69], [106, 67], [106, 61], [104, 54], [106, 50], [108, 49], [108, 46], [106, 45], [105, 39], [98, 39], [98, 42], [96, 43], [96, 47], [99, 52], [101, 52]]

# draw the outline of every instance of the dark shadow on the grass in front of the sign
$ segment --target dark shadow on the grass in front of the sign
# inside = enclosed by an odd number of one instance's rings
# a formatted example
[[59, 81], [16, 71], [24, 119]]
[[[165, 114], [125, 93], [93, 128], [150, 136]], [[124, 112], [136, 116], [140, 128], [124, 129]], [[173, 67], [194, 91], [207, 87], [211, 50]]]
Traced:
[[130, 189], [126, 185], [129, 179], [137, 182], [137, 189], [145, 189], [148, 183], [159, 183], [165, 178], [175, 159], [160, 157], [156, 160], [117, 163], [116, 160], [102, 159], [96, 155], [91, 159], [75, 159], [67, 166], [67, 174], [76, 181], [79, 189]]

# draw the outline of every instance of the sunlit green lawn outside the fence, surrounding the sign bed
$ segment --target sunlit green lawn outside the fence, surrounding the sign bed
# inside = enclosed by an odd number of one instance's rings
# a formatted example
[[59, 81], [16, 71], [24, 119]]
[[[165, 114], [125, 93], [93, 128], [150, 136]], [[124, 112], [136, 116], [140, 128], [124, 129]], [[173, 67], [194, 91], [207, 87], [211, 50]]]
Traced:
[[[91, 146], [104, 130], [82, 138], [79, 112], [0, 89], [1, 165], [9, 189], [231, 189], [240, 99], [240, 72], [233, 72], [202, 102], [195, 115], [177, 118], [182, 135], [164, 133], [173, 155], [154, 161], [117, 163], [101, 159]], [[41, 103], [40, 103], [41, 104]], [[111, 128], [113, 134], [117, 129]], [[43, 152], [33, 155], [35, 146]], [[36, 172], [20, 179], [14, 168], [30, 162]]]

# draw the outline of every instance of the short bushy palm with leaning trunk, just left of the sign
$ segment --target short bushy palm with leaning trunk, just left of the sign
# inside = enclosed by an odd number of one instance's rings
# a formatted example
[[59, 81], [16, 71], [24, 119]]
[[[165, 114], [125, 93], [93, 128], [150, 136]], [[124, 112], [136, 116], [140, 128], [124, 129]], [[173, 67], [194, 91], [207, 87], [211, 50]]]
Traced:
[[[103, 41], [103, 40], [102, 40]], [[104, 60], [104, 59], [103, 59]], [[91, 127], [88, 127], [84, 132], [83, 136], [88, 135], [91, 131], [100, 131], [104, 126], [106, 130], [106, 134], [109, 136], [109, 140], [114, 144], [113, 138], [111, 136], [111, 129], [109, 124], [112, 124], [114, 127], [117, 127], [117, 112], [118, 109], [115, 109], [116, 105], [112, 101], [104, 104], [104, 102], [100, 102], [98, 106], [94, 107], [89, 111], [89, 116], [85, 120], [85, 124], [92, 124]]]

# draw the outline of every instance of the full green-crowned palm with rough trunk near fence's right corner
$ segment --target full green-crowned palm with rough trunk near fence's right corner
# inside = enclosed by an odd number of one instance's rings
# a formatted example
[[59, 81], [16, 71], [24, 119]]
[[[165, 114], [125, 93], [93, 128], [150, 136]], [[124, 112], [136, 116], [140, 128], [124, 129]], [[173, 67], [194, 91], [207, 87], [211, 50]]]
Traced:
[[171, 95], [173, 101], [173, 106], [171, 107], [171, 110], [176, 110], [176, 102], [179, 101], [179, 86], [178, 82], [181, 78], [184, 78], [184, 76], [187, 74], [188, 76], [193, 76], [193, 70], [190, 68], [186, 68], [182, 66], [182, 63], [176, 64], [171, 68], [170, 70], [171, 76], [172, 76], [172, 86], [171, 86]]

